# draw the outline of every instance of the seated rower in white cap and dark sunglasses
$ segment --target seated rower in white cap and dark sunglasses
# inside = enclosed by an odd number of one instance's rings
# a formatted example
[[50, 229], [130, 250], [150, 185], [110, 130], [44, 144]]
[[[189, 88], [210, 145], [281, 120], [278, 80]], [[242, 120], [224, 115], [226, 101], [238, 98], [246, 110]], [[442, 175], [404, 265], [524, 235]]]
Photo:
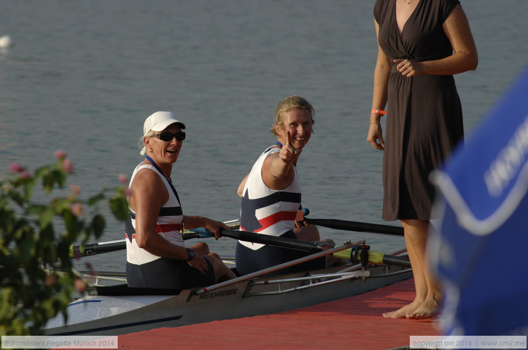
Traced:
[[140, 163], [130, 179], [127, 283], [130, 287], [185, 289], [236, 277], [208, 245], [185, 247], [185, 228], [204, 227], [220, 237], [224, 223], [183, 215], [171, 181], [172, 166], [185, 140], [185, 124], [171, 112], [156, 112], [143, 125]]

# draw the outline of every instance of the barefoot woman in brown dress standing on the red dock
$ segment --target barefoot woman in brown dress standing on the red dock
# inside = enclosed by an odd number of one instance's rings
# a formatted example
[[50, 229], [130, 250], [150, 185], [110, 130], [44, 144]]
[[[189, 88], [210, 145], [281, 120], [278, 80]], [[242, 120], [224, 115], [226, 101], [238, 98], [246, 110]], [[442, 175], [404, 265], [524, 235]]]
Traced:
[[477, 50], [457, 0], [377, 0], [374, 24], [378, 60], [367, 141], [384, 150], [383, 219], [402, 222], [416, 288], [411, 304], [383, 316], [429, 318], [441, 293], [425, 257], [434, 195], [428, 177], [463, 140], [452, 75], [475, 70]]

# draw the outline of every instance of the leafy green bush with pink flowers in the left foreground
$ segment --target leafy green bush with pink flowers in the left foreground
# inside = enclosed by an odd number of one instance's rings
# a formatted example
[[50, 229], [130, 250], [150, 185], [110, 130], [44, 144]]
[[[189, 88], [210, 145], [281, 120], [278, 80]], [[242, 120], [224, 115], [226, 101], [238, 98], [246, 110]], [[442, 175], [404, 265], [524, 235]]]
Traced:
[[[0, 180], [0, 335], [41, 335], [48, 319], [66, 317], [73, 291], [86, 289], [72, 271], [70, 246], [103, 234], [104, 202], [118, 220], [128, 215], [124, 176], [120, 186], [82, 200], [79, 186], [65, 190], [73, 163], [62, 151], [55, 158], [33, 174], [13, 163]], [[39, 182], [45, 203], [34, 200]]]

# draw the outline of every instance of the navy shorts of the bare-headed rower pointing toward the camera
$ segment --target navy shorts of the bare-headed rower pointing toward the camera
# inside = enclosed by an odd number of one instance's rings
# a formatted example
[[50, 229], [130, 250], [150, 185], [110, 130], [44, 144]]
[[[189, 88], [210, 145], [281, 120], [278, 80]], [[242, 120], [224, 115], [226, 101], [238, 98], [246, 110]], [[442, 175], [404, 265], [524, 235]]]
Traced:
[[[297, 236], [293, 231], [288, 231], [285, 234], [282, 234], [280, 237], [297, 239]], [[241, 245], [240, 242], [237, 242], [235, 260], [237, 261], [237, 272], [240, 276], [242, 276], [272, 266], [287, 263], [291, 260], [303, 258], [312, 254], [314, 253], [297, 249], [275, 247], [270, 245], [265, 245], [260, 249], [253, 250], [251, 248]], [[325, 265], [326, 258], [321, 257], [314, 260], [306, 261], [306, 263], [280, 269], [278, 271], [275, 271], [274, 273], [270, 273], [264, 276], [282, 275], [286, 273], [320, 269], [324, 268]]]

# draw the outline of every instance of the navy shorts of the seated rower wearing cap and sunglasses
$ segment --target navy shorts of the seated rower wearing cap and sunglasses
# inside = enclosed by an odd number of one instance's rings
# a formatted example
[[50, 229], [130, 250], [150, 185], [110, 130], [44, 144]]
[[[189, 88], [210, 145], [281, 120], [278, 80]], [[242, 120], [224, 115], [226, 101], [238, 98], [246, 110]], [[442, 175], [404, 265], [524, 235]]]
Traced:
[[208, 269], [205, 275], [184, 260], [159, 258], [150, 263], [135, 265], [127, 263], [129, 287], [188, 289], [214, 284], [214, 269], [205, 258]]

